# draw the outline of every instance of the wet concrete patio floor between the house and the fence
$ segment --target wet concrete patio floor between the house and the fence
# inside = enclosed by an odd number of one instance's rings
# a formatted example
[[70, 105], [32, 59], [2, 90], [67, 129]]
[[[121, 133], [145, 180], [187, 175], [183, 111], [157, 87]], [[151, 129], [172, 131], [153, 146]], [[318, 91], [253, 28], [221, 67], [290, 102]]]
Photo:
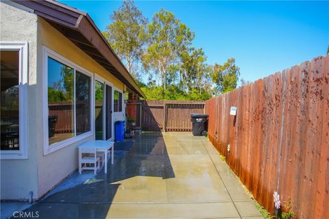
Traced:
[[26, 211], [39, 218], [263, 218], [206, 138], [143, 133], [132, 141], [106, 176], [75, 173]]

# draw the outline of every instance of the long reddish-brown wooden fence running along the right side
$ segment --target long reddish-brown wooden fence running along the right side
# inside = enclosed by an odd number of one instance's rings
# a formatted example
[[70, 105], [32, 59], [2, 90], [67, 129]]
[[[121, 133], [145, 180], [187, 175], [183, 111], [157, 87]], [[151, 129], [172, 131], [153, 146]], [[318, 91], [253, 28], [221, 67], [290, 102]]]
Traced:
[[206, 101], [209, 140], [270, 212], [278, 191], [296, 218], [329, 218], [328, 81], [327, 55]]

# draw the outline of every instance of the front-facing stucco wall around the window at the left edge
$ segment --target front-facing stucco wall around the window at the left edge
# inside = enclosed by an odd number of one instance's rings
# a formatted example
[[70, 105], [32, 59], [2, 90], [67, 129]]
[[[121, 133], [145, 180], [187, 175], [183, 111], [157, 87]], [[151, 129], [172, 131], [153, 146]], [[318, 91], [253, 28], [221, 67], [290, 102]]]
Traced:
[[[13, 6], [14, 5], [14, 6]], [[38, 196], [36, 146], [38, 142], [35, 118], [37, 99], [36, 33], [37, 16], [15, 3], [0, 2], [0, 40], [28, 43], [27, 81], [27, 159], [1, 159], [1, 199], [28, 199], [32, 191]]]

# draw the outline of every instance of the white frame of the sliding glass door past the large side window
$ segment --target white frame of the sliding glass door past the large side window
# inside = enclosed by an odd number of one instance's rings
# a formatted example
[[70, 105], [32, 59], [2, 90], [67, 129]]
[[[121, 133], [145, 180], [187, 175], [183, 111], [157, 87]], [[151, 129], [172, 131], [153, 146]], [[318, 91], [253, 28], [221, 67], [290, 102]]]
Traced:
[[[95, 75], [94, 77], [94, 88], [95, 88], [95, 83], [96, 81], [100, 82], [100, 83], [103, 83], [103, 139], [105, 139], [106, 141], [110, 141], [110, 140], [113, 140], [114, 139], [114, 123], [113, 123], [113, 114], [114, 114], [114, 86], [113, 86], [113, 83], [110, 83], [110, 81], [104, 79], [103, 77], [99, 76], [99, 75]], [[111, 92], [111, 100], [112, 100], [112, 107], [111, 107], [111, 111], [112, 111], [112, 115], [111, 115], [111, 120], [112, 120], [112, 136], [111, 138], [109, 139], [106, 139], [106, 85], [110, 86], [112, 88], [112, 92]], [[96, 90], [94, 90], [93, 92], [93, 100], [94, 100], [94, 103], [95, 103], [95, 92]], [[95, 105], [94, 105], [94, 109], [93, 109], [93, 114], [95, 115]], [[96, 120], [94, 118], [94, 121], [93, 121], [93, 124], [94, 126], [96, 126]], [[94, 132], [95, 133], [95, 132]], [[96, 138], [96, 135], [94, 134], [94, 140]]]

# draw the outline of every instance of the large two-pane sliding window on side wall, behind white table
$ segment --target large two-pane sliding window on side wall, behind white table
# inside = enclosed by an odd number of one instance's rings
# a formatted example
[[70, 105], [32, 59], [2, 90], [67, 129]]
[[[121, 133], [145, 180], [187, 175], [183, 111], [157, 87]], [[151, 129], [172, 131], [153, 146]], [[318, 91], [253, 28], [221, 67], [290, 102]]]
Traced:
[[47, 133], [45, 153], [91, 136], [92, 76], [57, 54], [47, 59]]

